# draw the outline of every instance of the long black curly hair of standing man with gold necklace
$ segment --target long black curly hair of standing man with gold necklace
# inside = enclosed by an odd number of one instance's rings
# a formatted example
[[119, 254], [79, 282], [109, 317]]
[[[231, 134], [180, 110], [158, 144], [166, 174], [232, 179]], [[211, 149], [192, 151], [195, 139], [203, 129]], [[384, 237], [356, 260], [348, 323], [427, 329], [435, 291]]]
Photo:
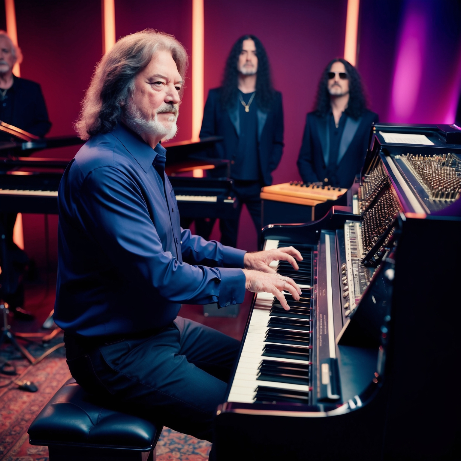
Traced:
[[240, 53], [242, 53], [243, 41], [249, 39], [254, 41], [256, 56], [258, 56], [258, 77], [256, 78], [255, 100], [261, 110], [267, 111], [274, 98], [271, 70], [266, 50], [260, 40], [254, 35], [243, 35], [240, 37], [234, 43], [231, 53], [229, 53], [221, 84], [221, 103], [225, 109], [235, 106], [238, 97], [238, 58]]

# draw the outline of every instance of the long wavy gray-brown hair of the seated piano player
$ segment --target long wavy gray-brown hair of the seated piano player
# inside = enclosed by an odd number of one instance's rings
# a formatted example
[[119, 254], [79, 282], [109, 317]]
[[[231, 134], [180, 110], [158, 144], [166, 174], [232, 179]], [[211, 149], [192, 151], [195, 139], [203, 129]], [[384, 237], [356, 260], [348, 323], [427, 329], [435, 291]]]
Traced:
[[164, 32], [146, 29], [127, 35], [103, 56], [83, 99], [80, 118], [74, 125], [81, 139], [108, 133], [120, 123], [122, 107], [132, 94], [136, 75], [160, 50], [171, 53], [184, 79], [189, 65], [186, 50], [173, 35]]

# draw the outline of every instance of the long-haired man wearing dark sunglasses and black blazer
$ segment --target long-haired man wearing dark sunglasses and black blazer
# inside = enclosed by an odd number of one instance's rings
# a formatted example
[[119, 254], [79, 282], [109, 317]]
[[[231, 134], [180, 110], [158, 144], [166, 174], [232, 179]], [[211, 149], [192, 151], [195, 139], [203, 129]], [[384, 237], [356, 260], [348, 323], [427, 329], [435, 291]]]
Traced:
[[333, 59], [320, 79], [315, 105], [307, 114], [297, 162], [302, 180], [349, 188], [365, 159], [370, 128], [378, 122], [378, 114], [366, 108], [355, 67]]

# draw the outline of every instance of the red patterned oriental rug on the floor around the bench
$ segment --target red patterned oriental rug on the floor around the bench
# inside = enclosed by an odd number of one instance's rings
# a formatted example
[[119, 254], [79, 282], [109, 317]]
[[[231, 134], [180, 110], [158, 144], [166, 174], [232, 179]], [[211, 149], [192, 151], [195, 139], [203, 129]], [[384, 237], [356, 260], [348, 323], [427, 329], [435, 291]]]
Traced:
[[[62, 337], [55, 343], [60, 343]], [[31, 343], [28, 350], [38, 357], [43, 353], [41, 344]], [[65, 363], [64, 348], [29, 366], [20, 358], [10, 344], [1, 347], [1, 357], [12, 361], [17, 368], [15, 379], [32, 381], [38, 391], [31, 393], [8, 384], [12, 377], [0, 375], [0, 460], [48, 461], [48, 448], [29, 443], [27, 429], [35, 416], [51, 399], [54, 393], [71, 377]], [[206, 461], [211, 443], [164, 428], [157, 443], [158, 461]]]

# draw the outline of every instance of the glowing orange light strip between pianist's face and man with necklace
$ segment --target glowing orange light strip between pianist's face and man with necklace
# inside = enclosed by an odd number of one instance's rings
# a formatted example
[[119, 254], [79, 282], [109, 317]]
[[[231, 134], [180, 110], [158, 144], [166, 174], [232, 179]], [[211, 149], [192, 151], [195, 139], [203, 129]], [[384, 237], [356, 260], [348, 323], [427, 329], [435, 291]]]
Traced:
[[192, 0], [192, 140], [198, 141], [203, 118], [205, 21], [203, 0]]

